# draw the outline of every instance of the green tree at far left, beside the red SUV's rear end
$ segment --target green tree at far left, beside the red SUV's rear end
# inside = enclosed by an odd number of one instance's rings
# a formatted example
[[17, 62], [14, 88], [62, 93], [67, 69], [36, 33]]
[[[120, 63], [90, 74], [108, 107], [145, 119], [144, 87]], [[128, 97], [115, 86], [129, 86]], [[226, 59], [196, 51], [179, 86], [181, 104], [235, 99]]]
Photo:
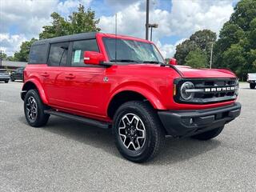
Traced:
[[30, 47], [33, 42], [38, 41], [38, 39], [31, 38], [30, 41], [22, 42], [20, 50], [14, 53], [14, 61], [27, 62], [30, 54]]

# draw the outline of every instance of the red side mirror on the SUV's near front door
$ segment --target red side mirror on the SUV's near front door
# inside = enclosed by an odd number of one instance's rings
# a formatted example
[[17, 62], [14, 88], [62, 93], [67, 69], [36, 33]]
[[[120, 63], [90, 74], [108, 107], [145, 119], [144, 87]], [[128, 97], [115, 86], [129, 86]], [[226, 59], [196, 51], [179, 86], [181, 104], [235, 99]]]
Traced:
[[83, 53], [83, 62], [90, 65], [99, 65], [105, 60], [104, 55], [95, 51], [85, 51]]

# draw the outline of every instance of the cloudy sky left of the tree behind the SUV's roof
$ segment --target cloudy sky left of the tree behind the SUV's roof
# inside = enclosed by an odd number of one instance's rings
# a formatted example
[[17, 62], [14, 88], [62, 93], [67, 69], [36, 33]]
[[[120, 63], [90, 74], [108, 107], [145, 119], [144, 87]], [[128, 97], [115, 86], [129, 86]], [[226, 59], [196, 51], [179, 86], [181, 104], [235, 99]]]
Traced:
[[[0, 0], [0, 47], [12, 55], [21, 41], [38, 38], [42, 26], [50, 25], [54, 11], [67, 16], [79, 3], [86, 8], [91, 0]], [[17, 31], [16, 31], [17, 30]], [[12, 34], [10, 34], [12, 32]]]

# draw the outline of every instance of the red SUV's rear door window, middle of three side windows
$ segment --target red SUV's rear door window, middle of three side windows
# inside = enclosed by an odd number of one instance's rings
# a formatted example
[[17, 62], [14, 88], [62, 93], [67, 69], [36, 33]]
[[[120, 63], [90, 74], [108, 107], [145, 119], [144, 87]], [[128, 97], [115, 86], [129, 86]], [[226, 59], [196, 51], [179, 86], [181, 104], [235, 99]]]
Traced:
[[49, 66], [66, 66], [69, 44], [69, 42], [59, 42], [50, 45]]

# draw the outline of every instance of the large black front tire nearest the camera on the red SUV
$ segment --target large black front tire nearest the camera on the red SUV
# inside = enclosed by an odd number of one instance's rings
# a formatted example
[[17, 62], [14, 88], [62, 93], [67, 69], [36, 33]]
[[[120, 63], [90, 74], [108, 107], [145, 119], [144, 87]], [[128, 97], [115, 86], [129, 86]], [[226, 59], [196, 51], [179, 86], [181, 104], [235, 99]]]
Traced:
[[[137, 117], [139, 120], [141, 120], [140, 123], [145, 128], [146, 133], [145, 141], [143, 145], [141, 145], [141, 148], [133, 151], [126, 148], [127, 146], [125, 146], [124, 142], [122, 141], [122, 137], [119, 134], [119, 129], [121, 128], [120, 123], [123, 123], [121, 122], [122, 119], [126, 115], [130, 114], [134, 114], [135, 118]], [[131, 124], [136, 124], [136, 122], [131, 122]], [[137, 126], [138, 123], [136, 127]], [[162, 123], [160, 122], [156, 111], [153, 109], [153, 107], [150, 106], [150, 104], [140, 101], [126, 102], [118, 108], [114, 114], [113, 134], [115, 144], [120, 154], [132, 162], [146, 162], [151, 158], [154, 158], [154, 156], [158, 154], [159, 150], [162, 148], [165, 142], [165, 132], [162, 128]], [[139, 131], [137, 134], [139, 134]], [[134, 139], [133, 141], [134, 145], [138, 143], [138, 140], [135, 141]]]

